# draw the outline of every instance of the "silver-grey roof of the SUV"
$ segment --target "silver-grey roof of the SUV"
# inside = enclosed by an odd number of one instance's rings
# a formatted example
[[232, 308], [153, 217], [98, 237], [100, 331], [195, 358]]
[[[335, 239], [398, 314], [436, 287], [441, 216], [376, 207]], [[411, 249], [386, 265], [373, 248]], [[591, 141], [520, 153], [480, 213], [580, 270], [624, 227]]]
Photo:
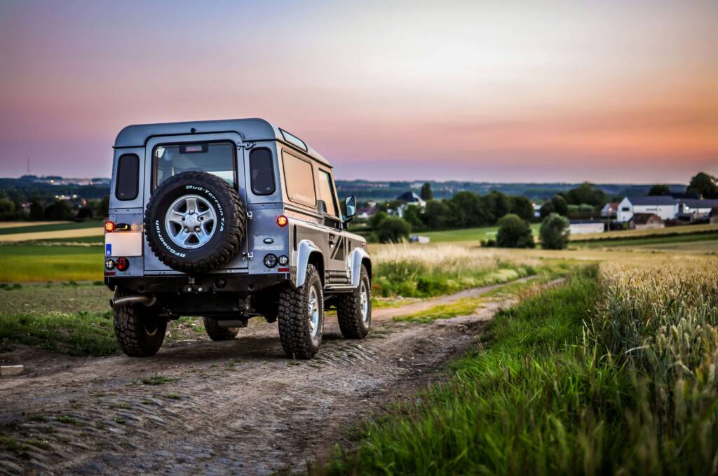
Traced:
[[[264, 119], [197, 120], [184, 123], [128, 125], [118, 133], [115, 139], [115, 148], [144, 147], [150, 138], [162, 135], [218, 132], [235, 132], [248, 142], [280, 141], [305, 151], [310, 157], [323, 163], [325, 166], [332, 166], [326, 158], [307, 146], [304, 141], [288, 133], [286, 130], [270, 124]], [[306, 146], [306, 148], [303, 148], [302, 144]]]

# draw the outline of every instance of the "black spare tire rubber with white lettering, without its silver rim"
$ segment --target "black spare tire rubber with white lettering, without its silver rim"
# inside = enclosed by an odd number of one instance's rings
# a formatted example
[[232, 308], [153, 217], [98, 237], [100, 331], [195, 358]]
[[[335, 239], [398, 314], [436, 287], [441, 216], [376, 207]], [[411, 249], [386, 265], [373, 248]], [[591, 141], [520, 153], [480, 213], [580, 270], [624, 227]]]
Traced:
[[[212, 238], [202, 247], [178, 246], [165, 229], [164, 217], [172, 202], [182, 195], [197, 194], [213, 205], [217, 223]], [[177, 173], [157, 187], [147, 204], [144, 230], [154, 254], [173, 270], [189, 273], [216, 270], [226, 265], [239, 251], [247, 229], [246, 208], [227, 181], [211, 173]]]

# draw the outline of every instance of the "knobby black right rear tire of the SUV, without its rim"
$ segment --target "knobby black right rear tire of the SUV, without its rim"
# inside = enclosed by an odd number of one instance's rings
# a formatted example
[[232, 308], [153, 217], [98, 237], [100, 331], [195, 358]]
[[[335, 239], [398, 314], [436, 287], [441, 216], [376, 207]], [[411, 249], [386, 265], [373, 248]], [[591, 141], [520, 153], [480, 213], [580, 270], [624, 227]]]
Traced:
[[[317, 290], [319, 300], [319, 330], [312, 338], [309, 331], [307, 306], [309, 305], [309, 289]], [[313, 265], [307, 265], [307, 277], [304, 284], [294, 287], [291, 283], [284, 285], [279, 292], [279, 340], [284, 353], [289, 358], [312, 358], [322, 344], [324, 333], [324, 290], [319, 272]]]

